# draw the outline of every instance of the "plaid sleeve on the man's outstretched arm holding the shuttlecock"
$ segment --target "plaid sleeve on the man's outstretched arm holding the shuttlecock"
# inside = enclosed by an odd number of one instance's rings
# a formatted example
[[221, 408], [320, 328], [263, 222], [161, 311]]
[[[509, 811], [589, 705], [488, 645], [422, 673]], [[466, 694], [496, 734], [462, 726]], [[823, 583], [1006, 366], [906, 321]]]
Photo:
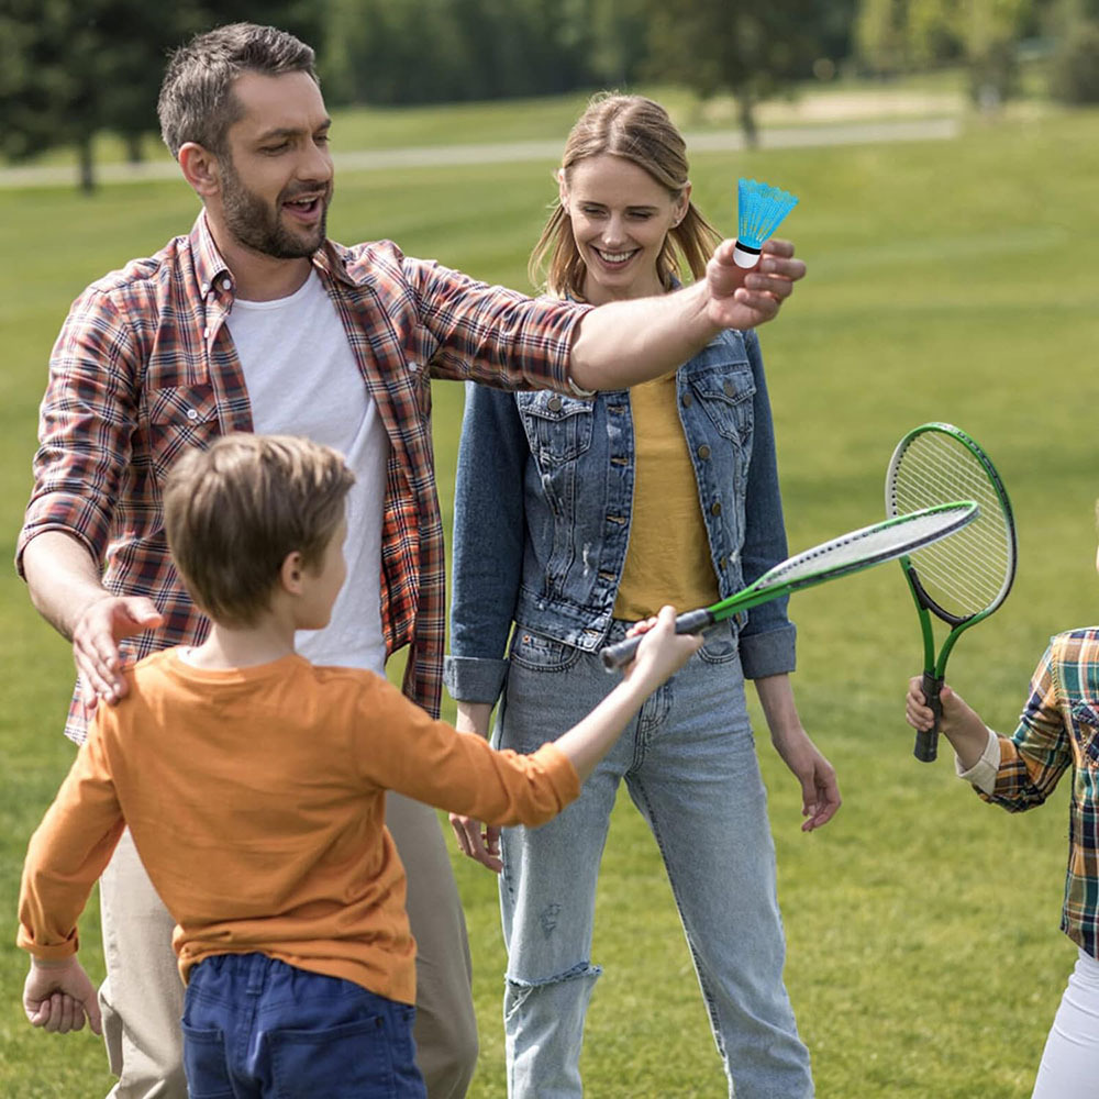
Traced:
[[417, 352], [436, 377], [499, 389], [567, 390], [576, 325], [591, 308], [478, 282], [404, 258], [417, 300]]

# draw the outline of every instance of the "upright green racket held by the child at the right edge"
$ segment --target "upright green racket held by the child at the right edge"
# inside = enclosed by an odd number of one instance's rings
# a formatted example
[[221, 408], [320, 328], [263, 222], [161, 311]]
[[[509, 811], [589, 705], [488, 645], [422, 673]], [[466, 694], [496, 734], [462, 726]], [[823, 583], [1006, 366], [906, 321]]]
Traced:
[[[915, 735], [915, 757], [924, 763], [939, 750], [946, 660], [963, 631], [1003, 602], [1015, 575], [1015, 523], [1011, 503], [988, 455], [964, 431], [925, 423], [897, 444], [886, 474], [886, 513], [897, 515], [958, 497], [976, 500], [980, 514], [958, 537], [901, 557], [923, 631], [923, 695], [935, 724]], [[929, 613], [930, 612], [930, 613]], [[935, 658], [931, 614], [951, 632]]]

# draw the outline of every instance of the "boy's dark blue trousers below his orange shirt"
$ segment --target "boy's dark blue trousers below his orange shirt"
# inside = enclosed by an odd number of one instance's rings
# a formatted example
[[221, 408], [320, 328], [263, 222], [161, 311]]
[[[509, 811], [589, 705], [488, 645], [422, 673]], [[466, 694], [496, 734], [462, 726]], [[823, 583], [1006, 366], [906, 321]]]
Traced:
[[190, 974], [184, 1066], [191, 1099], [425, 1099], [415, 1009], [264, 954]]

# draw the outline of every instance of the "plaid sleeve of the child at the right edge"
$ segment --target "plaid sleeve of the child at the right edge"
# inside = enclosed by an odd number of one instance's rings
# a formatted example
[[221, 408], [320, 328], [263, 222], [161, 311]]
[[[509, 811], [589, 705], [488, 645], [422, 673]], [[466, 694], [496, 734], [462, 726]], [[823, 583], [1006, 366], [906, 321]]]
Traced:
[[1031, 679], [1019, 728], [1010, 739], [1000, 737], [996, 786], [980, 797], [1010, 812], [1032, 809], [1045, 801], [1072, 765], [1072, 736], [1058, 704], [1055, 645], [1051, 644]]

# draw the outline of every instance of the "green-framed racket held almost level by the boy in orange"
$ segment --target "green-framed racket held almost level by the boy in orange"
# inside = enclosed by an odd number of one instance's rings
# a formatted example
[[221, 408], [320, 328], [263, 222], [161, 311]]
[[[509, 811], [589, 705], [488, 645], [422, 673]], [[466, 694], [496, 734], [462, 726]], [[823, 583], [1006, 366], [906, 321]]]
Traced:
[[[850, 573], [869, 568], [885, 560], [926, 546], [948, 534], [959, 531], [977, 518], [973, 500], [940, 501], [914, 514], [899, 515], [851, 531], [831, 542], [824, 542], [788, 557], [768, 569], [755, 582], [710, 607], [687, 611], [676, 619], [676, 633], [698, 633], [700, 630], [731, 618], [737, 611], [758, 607], [771, 599], [809, 588], [825, 580], [834, 580]], [[640, 644], [640, 637], [628, 637], [604, 648], [603, 666], [608, 671], [628, 664]]]

